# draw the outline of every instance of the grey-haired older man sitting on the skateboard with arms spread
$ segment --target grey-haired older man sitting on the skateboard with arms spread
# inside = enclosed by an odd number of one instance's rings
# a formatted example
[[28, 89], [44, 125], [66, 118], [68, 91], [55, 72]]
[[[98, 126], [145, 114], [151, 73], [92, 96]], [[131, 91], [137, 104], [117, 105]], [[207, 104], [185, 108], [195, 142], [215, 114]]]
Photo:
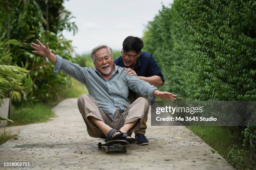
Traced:
[[[160, 92], [148, 82], [127, 75], [124, 68], [114, 65], [112, 50], [106, 45], [100, 45], [92, 50], [94, 69], [80, 67], [65, 60], [53, 54], [48, 43], [45, 46], [39, 40], [37, 42], [38, 44], [31, 43], [31, 47], [35, 49], [32, 52], [51, 60], [55, 64], [56, 75], [62, 71], [86, 85], [89, 95], [81, 95], [77, 104], [91, 137], [106, 137], [106, 141], [123, 139], [134, 143], [134, 138], [129, 135], [140, 129], [149, 103], [154, 102], [155, 96], [176, 100], [176, 95]], [[147, 97], [148, 100], [139, 97], [131, 104], [127, 98], [129, 88]]]

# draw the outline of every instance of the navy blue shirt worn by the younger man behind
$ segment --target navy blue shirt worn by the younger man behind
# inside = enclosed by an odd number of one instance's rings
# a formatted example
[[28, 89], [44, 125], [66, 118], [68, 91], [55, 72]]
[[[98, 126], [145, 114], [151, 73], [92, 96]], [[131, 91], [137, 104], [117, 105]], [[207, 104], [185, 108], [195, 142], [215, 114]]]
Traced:
[[[125, 67], [123, 64], [122, 57], [118, 57], [114, 60], [115, 65], [120, 67]], [[137, 58], [136, 65], [133, 69], [138, 76], [151, 77], [153, 75], [158, 75], [164, 84], [164, 76], [154, 58], [154, 56], [149, 52], [141, 52], [141, 55]]]

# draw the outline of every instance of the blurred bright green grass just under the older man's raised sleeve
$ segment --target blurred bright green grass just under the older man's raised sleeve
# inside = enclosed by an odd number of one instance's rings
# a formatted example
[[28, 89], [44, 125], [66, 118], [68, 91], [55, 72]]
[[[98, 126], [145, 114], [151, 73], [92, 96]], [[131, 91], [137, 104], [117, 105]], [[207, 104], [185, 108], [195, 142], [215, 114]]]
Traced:
[[82, 82], [79, 82], [71, 77], [71, 87], [63, 93], [64, 98], [79, 97], [84, 93], [88, 93], [87, 88]]

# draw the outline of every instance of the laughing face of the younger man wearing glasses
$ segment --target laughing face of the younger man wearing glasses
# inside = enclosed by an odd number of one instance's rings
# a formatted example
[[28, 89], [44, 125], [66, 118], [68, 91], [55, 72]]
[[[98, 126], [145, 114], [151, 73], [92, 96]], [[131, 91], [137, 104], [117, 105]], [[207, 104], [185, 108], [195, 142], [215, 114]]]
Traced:
[[141, 55], [141, 51], [140, 52], [136, 52], [134, 50], [130, 50], [130, 51], [123, 51], [122, 50], [122, 59], [123, 59], [123, 64], [125, 65], [125, 67], [129, 67], [134, 69], [136, 62], [137, 62], [137, 58]]

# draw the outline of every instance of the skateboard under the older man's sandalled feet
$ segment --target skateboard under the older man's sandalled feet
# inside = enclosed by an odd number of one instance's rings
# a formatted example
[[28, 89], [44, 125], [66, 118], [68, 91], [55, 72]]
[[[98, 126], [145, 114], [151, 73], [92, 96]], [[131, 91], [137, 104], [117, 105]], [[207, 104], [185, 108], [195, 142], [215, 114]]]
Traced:
[[[100, 138], [101, 140], [103, 140], [105, 142], [106, 138]], [[126, 146], [129, 143], [126, 140], [110, 140], [104, 144], [102, 144], [101, 142], [98, 143], [98, 148], [101, 149], [102, 147], [104, 148], [105, 153], [110, 153], [112, 151], [116, 152], [123, 152], [126, 153], [127, 149]]]

